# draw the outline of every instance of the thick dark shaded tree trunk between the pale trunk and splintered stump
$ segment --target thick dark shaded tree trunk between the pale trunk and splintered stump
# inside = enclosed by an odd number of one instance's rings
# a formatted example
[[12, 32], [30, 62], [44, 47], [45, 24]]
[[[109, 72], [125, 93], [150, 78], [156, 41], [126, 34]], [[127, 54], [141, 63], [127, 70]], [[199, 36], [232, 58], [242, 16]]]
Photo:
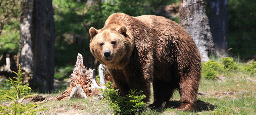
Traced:
[[52, 0], [34, 0], [33, 7], [33, 79], [30, 86], [39, 92], [53, 90], [54, 37]]

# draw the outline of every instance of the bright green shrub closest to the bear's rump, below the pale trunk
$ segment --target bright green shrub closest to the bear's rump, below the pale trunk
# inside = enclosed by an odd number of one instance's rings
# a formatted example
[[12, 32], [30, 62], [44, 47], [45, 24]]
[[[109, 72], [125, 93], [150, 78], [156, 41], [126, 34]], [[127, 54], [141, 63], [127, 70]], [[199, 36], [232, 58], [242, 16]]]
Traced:
[[209, 60], [202, 63], [202, 77], [204, 79], [215, 79], [218, 76], [218, 71], [221, 71], [221, 64], [218, 62]]

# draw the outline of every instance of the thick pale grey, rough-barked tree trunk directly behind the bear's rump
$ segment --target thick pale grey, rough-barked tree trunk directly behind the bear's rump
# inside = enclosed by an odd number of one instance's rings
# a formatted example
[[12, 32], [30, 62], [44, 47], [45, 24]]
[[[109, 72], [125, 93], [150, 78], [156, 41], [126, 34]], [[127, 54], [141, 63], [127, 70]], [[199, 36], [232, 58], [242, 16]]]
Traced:
[[209, 20], [205, 13], [204, 0], [180, 0], [180, 25], [194, 39], [202, 61], [208, 61], [210, 54], [215, 54]]

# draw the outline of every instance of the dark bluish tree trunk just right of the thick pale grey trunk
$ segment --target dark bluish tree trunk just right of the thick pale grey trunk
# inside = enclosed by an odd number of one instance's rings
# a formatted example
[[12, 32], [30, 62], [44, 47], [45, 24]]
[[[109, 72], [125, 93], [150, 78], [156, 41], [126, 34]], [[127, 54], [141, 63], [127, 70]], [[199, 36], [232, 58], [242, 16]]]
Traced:
[[216, 51], [225, 56], [228, 50], [228, 0], [208, 0], [209, 19]]

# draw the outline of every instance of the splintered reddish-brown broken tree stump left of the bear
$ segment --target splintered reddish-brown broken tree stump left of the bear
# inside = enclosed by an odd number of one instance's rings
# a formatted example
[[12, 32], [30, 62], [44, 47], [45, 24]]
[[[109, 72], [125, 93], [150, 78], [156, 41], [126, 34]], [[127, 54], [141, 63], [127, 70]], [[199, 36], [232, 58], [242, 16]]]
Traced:
[[[70, 86], [56, 98], [66, 100], [69, 98], [87, 98], [100, 93], [99, 84], [95, 77], [95, 70], [87, 70], [83, 64], [83, 57], [78, 53], [75, 69], [69, 76]], [[81, 90], [82, 89], [82, 90]]]

